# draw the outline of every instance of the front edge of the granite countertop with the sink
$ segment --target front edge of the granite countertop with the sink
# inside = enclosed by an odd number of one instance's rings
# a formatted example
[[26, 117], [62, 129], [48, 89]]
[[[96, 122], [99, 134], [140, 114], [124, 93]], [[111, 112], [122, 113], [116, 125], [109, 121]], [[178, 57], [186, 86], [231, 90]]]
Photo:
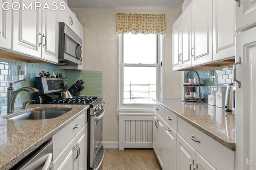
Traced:
[[[30, 145], [28, 148], [26, 148], [24, 151], [20, 152], [18, 155], [16, 155], [14, 158], [10, 159], [8, 162], [5, 162], [4, 164], [0, 165], [0, 169], [10, 169], [14, 165], [16, 165], [18, 162], [20, 162], [23, 158], [28, 156], [31, 152], [33, 152], [38, 146], [46, 142], [49, 138], [51, 138], [54, 134], [56, 134], [58, 131], [60, 131], [62, 128], [64, 128], [68, 123], [76, 119], [79, 115], [81, 115], [85, 110], [89, 109], [90, 105], [83, 108], [81, 111], [79, 111], [76, 115], [72, 116], [70, 119], [67, 119], [64, 123], [62, 123], [57, 128], [50, 131], [48, 134], [40, 138], [38, 141], [36, 141], [34, 144]], [[54, 118], [57, 119], [57, 118]]]

